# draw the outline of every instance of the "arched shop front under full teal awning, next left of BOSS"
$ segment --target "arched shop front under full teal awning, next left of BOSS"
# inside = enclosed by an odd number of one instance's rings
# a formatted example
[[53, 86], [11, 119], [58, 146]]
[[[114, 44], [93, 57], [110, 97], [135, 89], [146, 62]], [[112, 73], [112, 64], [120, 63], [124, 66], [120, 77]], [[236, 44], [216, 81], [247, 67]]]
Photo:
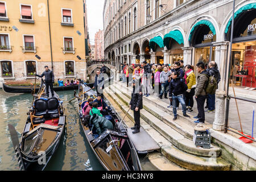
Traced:
[[174, 64], [177, 61], [183, 60], [183, 49], [184, 47], [184, 39], [183, 35], [179, 30], [170, 31], [168, 34], [164, 35], [164, 46], [168, 50], [170, 50], [168, 55], [170, 59], [167, 57], [167, 64]]

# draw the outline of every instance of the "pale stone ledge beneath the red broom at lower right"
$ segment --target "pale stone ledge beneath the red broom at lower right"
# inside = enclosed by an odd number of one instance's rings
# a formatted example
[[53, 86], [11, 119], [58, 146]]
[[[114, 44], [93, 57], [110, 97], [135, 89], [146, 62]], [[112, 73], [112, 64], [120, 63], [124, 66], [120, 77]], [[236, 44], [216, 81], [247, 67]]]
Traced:
[[216, 131], [210, 129], [210, 135], [217, 140], [227, 144], [228, 146], [242, 152], [243, 154], [249, 156], [250, 158], [256, 160], [256, 147], [248, 143], [243, 143], [240, 139], [234, 136], [224, 133], [224, 131]]

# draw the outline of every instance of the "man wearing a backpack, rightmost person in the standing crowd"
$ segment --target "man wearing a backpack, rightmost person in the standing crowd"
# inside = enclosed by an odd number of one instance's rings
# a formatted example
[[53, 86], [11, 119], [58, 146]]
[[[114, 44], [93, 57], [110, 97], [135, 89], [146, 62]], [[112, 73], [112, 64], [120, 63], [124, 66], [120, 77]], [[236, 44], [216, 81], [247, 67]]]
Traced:
[[220, 72], [218, 71], [217, 64], [214, 61], [210, 61], [209, 65], [209, 86], [208, 86], [208, 95], [207, 95], [207, 103], [208, 103], [208, 113], [213, 113], [215, 111], [215, 93], [218, 89], [218, 83], [221, 80]]

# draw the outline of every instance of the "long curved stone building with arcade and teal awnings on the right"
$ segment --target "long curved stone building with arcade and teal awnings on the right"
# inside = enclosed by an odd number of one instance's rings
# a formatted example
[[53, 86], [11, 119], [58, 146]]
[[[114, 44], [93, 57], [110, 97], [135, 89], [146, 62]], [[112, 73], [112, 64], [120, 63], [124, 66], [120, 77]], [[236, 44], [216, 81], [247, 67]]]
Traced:
[[222, 79], [213, 129], [222, 131], [228, 76], [237, 86], [256, 87], [256, 1], [236, 0], [230, 45], [232, 10], [233, 0], [106, 0], [105, 57], [118, 69], [121, 63], [144, 60], [173, 64], [182, 59], [185, 65], [216, 61]]

